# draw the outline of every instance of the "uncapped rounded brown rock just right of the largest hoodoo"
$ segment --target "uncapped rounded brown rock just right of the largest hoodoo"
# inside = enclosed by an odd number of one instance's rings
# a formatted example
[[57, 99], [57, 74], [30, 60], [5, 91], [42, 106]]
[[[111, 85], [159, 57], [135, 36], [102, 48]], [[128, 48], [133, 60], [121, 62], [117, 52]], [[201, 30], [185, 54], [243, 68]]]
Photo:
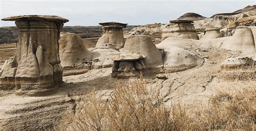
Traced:
[[93, 53], [86, 49], [84, 41], [77, 34], [61, 32], [59, 39], [59, 58], [62, 67], [76, 66], [90, 62]]

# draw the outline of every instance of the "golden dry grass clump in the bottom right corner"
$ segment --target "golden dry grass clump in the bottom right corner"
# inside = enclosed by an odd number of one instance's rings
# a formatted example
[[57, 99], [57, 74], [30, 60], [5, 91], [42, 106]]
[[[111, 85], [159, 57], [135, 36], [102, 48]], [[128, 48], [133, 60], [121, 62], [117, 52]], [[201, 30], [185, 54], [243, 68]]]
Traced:
[[255, 88], [218, 92], [211, 98], [210, 107], [201, 112], [198, 120], [205, 129], [254, 130], [256, 120]]

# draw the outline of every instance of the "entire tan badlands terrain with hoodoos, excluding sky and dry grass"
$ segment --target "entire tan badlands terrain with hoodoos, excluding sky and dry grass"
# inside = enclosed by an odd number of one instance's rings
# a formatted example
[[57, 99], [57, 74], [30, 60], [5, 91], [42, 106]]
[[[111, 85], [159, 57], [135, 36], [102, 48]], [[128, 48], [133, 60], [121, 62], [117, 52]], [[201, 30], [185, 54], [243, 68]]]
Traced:
[[125, 36], [127, 24], [100, 23], [102, 37], [90, 48], [77, 34], [60, 33], [68, 19], [3, 18], [20, 33], [16, 54], [0, 71], [0, 130], [69, 125], [65, 118], [92, 89], [108, 101], [116, 83], [134, 79], [146, 79], [150, 96], [165, 107], [206, 107], [219, 90], [255, 89], [255, 19], [235, 23], [256, 15], [247, 9], [212, 18], [190, 13]]

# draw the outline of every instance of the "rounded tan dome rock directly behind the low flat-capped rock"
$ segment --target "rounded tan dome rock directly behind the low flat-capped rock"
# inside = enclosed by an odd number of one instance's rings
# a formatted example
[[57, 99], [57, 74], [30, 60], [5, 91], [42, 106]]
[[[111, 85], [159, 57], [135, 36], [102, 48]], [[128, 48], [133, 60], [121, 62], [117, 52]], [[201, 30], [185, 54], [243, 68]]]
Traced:
[[157, 49], [152, 39], [146, 35], [132, 35], [125, 41], [122, 53], [140, 54], [144, 57], [144, 63], [147, 68], [159, 65], [162, 62], [162, 55]]

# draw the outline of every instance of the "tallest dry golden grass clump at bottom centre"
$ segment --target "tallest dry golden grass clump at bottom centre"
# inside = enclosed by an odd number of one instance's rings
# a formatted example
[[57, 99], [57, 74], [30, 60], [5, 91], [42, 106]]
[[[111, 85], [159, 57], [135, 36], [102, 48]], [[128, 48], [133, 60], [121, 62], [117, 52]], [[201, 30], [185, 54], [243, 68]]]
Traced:
[[170, 113], [160, 104], [152, 104], [145, 81], [117, 84], [110, 101], [92, 91], [72, 120], [74, 129], [88, 130], [169, 130]]

